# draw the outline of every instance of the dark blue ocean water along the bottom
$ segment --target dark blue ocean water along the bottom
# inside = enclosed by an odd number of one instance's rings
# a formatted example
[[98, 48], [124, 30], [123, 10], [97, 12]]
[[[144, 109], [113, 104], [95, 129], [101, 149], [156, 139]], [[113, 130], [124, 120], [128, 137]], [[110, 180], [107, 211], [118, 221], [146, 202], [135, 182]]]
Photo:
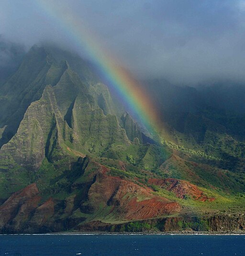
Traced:
[[245, 256], [244, 235], [0, 235], [0, 256]]

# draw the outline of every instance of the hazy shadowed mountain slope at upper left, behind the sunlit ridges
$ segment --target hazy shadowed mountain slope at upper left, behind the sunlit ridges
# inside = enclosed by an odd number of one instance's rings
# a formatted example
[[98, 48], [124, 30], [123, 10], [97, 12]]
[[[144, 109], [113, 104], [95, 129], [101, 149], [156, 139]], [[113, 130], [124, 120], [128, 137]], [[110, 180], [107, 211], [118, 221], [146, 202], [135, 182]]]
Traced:
[[6, 129], [0, 137], [0, 147], [17, 132], [30, 104], [41, 98], [46, 85], [55, 85], [67, 69], [66, 63], [56, 63], [44, 48], [33, 46], [16, 73], [1, 86], [0, 127]]

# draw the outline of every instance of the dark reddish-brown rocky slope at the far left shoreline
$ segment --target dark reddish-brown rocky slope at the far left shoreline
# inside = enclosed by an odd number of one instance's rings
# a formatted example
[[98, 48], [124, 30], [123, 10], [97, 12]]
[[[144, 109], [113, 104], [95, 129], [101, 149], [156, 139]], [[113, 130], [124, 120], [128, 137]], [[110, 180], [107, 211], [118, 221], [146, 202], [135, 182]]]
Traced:
[[0, 232], [38, 232], [54, 215], [54, 202], [41, 201], [35, 183], [14, 193], [0, 206]]

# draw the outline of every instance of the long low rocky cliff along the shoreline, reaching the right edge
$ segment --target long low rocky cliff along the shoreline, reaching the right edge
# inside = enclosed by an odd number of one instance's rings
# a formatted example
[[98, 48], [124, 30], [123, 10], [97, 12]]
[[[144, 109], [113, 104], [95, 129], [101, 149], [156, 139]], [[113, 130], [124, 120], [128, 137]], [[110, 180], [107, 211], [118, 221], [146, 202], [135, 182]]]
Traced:
[[79, 226], [81, 231], [102, 232], [163, 232], [163, 233], [245, 233], [244, 216], [168, 217], [110, 224], [91, 221]]

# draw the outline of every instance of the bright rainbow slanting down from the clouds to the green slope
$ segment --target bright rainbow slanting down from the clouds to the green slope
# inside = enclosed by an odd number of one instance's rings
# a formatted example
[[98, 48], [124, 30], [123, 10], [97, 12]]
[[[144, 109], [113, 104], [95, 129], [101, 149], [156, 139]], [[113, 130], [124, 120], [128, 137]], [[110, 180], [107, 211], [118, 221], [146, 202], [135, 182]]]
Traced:
[[88, 30], [88, 26], [81, 21], [81, 18], [69, 10], [68, 5], [60, 5], [52, 0], [36, 0], [36, 3], [38, 9], [41, 8], [45, 15], [65, 29], [67, 36], [74, 41], [78, 49], [86, 52], [100, 76], [110, 83], [148, 131], [152, 134], [161, 132], [163, 124], [159, 114], [142, 86], [118, 65], [111, 54], [101, 48], [99, 40]]

